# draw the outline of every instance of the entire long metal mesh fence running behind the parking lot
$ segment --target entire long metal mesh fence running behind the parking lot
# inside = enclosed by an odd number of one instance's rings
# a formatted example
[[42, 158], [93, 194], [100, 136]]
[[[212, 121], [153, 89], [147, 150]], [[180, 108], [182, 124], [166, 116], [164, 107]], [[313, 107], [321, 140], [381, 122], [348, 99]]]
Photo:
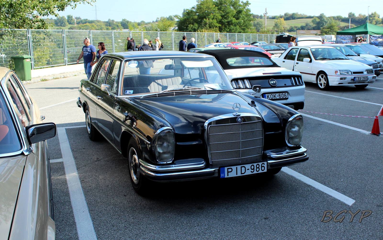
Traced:
[[[30, 32], [30, 36], [29, 36]], [[182, 36], [186, 34], [187, 43], [194, 37], [198, 47], [216, 42], [252, 42], [275, 40], [278, 34], [243, 34], [213, 32], [141, 32], [141, 31], [87, 31], [87, 30], [39, 30], [39, 29], [0, 29], [0, 66], [13, 68], [10, 57], [32, 55], [32, 67], [43, 68], [75, 63], [81, 53], [83, 39], [90, 37], [92, 44], [104, 42], [108, 52], [126, 50], [126, 37], [131, 36], [136, 45], [142, 39], [153, 40], [160, 37], [164, 50], [178, 50]], [[302, 35], [293, 35], [299, 37]], [[114, 43], [114, 45], [113, 45]], [[65, 44], [65, 45], [64, 45]]]

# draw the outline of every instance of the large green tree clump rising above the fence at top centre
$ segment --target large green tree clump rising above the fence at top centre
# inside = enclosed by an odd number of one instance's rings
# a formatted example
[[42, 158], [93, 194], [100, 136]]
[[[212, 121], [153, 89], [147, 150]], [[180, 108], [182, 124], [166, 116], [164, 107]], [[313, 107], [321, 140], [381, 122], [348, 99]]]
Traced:
[[184, 10], [178, 31], [198, 32], [218, 29], [219, 32], [248, 32], [252, 28], [250, 3], [240, 0], [198, 0], [197, 5]]

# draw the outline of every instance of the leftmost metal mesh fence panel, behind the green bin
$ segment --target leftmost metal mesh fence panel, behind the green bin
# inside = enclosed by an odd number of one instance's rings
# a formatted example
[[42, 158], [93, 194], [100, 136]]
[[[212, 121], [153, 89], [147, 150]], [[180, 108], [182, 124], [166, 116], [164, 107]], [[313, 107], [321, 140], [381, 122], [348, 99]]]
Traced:
[[28, 55], [28, 30], [0, 29], [0, 66], [13, 68], [9, 65], [11, 57]]

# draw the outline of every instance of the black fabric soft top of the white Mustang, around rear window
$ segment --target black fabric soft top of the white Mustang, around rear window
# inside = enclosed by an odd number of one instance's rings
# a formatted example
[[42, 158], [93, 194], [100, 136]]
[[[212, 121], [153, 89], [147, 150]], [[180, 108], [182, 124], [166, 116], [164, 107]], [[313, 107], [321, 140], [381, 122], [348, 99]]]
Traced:
[[[242, 49], [211, 49], [211, 50], [205, 50], [198, 52], [200, 54], [208, 54], [214, 56], [219, 64], [222, 66], [223, 69], [238, 69], [238, 68], [278, 68], [279, 66], [277, 63], [273, 62], [273, 60], [268, 57], [268, 55], [252, 51], [252, 50], [242, 50]], [[234, 57], [262, 57], [270, 60], [270, 62], [273, 63], [273, 65], [252, 65], [252, 66], [231, 66], [226, 62], [226, 59], [228, 58], [234, 58]]]

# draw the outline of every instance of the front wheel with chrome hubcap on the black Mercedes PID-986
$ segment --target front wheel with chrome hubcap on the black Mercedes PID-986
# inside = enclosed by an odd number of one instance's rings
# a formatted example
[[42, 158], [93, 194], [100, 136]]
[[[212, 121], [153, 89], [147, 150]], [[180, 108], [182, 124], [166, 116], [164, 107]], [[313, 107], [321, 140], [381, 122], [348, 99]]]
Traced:
[[131, 138], [128, 144], [129, 175], [134, 191], [141, 196], [149, 195], [151, 181], [139, 172], [142, 159], [141, 152], [134, 138]]

